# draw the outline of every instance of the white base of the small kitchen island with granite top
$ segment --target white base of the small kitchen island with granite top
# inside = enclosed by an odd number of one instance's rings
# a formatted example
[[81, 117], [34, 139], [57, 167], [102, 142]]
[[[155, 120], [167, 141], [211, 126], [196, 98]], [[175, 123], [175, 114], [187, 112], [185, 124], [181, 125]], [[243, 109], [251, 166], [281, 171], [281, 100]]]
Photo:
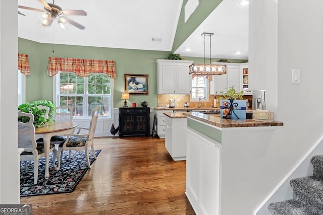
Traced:
[[[165, 114], [164, 114], [165, 115]], [[165, 148], [174, 161], [186, 159], [185, 128], [187, 119], [166, 116]]]

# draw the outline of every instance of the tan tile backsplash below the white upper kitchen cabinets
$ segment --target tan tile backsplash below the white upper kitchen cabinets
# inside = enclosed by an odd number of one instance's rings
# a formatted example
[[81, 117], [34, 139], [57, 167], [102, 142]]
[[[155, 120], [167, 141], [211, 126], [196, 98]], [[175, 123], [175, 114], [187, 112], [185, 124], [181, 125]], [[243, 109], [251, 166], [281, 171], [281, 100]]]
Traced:
[[[208, 102], [201, 103], [201, 107], [213, 107], [214, 99], [219, 99], [221, 95], [209, 95]], [[166, 107], [167, 104], [170, 104], [170, 99], [175, 99], [175, 107], [184, 107], [185, 102], [189, 104], [191, 108], [197, 108], [198, 102], [190, 102], [190, 95], [183, 94], [158, 94], [157, 95], [157, 107]], [[252, 95], [245, 95], [243, 99], [247, 99], [249, 102], [249, 108], [252, 108]], [[220, 107], [220, 100], [218, 107]]]

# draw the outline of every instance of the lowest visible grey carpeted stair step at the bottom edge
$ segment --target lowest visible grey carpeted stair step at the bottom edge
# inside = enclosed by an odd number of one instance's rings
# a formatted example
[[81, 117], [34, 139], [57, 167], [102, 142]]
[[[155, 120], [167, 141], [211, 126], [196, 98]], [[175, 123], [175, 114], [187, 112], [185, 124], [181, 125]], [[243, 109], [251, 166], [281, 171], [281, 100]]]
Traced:
[[287, 200], [271, 203], [268, 209], [272, 215], [318, 215], [313, 210], [309, 210], [305, 205], [300, 205], [295, 200]]

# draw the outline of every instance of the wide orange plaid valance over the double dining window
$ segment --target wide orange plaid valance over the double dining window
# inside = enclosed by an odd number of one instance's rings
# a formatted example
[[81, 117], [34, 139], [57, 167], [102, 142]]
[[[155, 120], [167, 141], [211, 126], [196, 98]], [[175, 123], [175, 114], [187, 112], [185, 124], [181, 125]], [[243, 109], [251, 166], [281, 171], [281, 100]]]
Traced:
[[90, 73], [105, 73], [112, 79], [117, 78], [113, 60], [49, 57], [47, 76], [55, 76], [59, 71], [71, 71], [79, 77], [87, 77]]

